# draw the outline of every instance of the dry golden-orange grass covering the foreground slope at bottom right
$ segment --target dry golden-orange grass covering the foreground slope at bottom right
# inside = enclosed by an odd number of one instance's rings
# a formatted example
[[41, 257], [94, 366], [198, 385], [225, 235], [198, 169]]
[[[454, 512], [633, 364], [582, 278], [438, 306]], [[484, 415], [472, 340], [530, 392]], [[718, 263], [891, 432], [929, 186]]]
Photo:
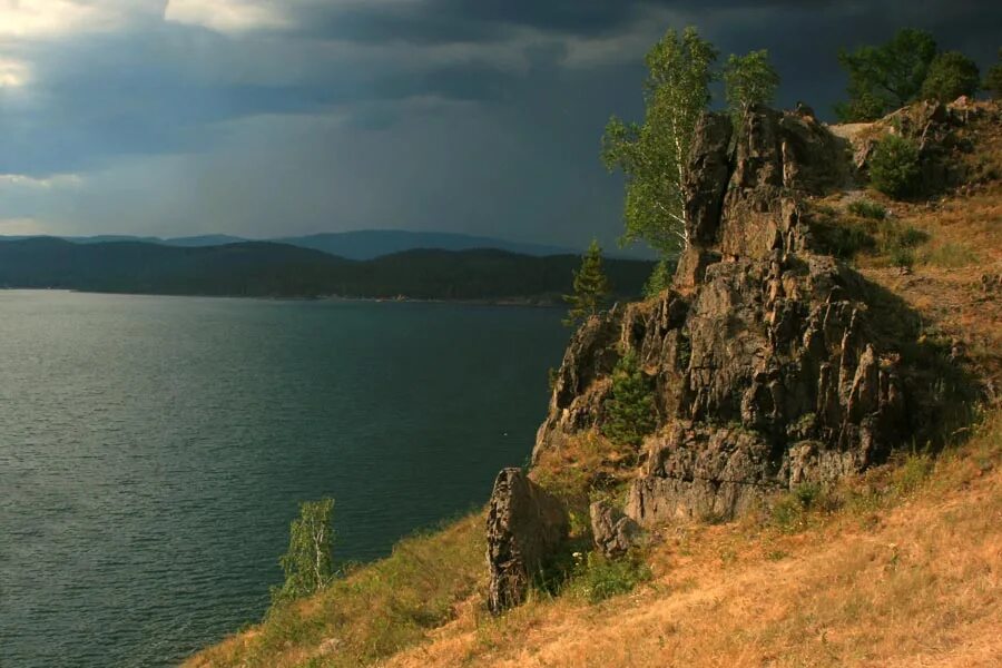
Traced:
[[[1002, 656], [1002, 412], [890, 508], [789, 536], [670, 530], [655, 581], [598, 606], [469, 609], [386, 661], [425, 666], [991, 666]], [[891, 470], [865, 484], [893, 484]]]

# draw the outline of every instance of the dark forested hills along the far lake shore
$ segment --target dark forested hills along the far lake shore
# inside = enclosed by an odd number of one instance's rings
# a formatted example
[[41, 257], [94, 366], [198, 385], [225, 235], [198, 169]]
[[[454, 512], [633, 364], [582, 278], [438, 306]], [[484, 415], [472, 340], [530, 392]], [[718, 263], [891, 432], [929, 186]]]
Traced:
[[[0, 287], [110, 293], [548, 302], [571, 291], [579, 265], [574, 255], [495, 249], [418, 249], [360, 262], [269, 242], [208, 247], [50, 237], [0, 242]], [[619, 296], [639, 294], [650, 269], [648, 262], [606, 261]]]

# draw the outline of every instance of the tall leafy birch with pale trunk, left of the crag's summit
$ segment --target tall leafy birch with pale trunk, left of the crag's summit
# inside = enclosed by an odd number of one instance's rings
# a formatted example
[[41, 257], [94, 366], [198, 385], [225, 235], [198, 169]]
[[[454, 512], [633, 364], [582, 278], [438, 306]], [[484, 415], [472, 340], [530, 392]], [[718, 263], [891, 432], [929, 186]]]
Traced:
[[669, 30], [647, 53], [644, 122], [613, 116], [606, 127], [602, 161], [626, 175], [623, 244], [642, 239], [662, 257], [689, 244], [682, 177], [717, 56], [695, 28]]

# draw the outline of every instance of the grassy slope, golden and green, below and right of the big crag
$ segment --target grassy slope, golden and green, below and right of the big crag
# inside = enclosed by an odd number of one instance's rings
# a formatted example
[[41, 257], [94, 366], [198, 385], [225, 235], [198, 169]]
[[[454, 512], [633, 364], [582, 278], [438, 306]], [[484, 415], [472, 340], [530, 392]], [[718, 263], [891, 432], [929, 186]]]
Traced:
[[[1002, 184], [935, 207], [884, 204], [929, 240], [911, 273], [881, 254], [858, 268], [918, 310], [927, 335], [963, 342], [971, 371], [1002, 391], [1002, 301], [981, 288], [1002, 273]], [[905, 456], [782, 522], [763, 511], [667, 528], [648, 552], [651, 581], [598, 605], [541, 596], [492, 619], [482, 518], [465, 518], [188, 665], [996, 665], [1002, 406], [955, 441], [935, 462]], [[582, 443], [582, 461], [608, 459], [600, 445]]]

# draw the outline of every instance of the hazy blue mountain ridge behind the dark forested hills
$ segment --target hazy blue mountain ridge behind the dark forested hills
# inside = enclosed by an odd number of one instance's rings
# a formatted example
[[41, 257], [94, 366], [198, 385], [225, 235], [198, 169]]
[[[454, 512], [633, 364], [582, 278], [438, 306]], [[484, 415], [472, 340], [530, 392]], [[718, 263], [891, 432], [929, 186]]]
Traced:
[[[31, 237], [0, 237], [7, 240], [21, 240]], [[346, 259], [373, 259], [382, 255], [413, 250], [416, 248], [435, 248], [440, 250], [472, 250], [477, 248], [495, 248], [521, 255], [547, 256], [578, 254], [580, 250], [546, 246], [540, 244], [522, 244], [492, 237], [472, 236], [449, 232], [406, 232], [403, 229], [364, 229], [358, 232], [336, 232], [306, 236], [289, 236], [272, 239], [247, 239], [226, 234], [209, 234], [174, 238], [139, 237], [127, 235], [72, 236], [58, 237], [76, 244], [104, 244], [115, 242], [143, 242], [164, 246], [183, 246], [197, 248], [203, 246], [222, 246], [252, 240], [275, 242], [322, 250]]]

